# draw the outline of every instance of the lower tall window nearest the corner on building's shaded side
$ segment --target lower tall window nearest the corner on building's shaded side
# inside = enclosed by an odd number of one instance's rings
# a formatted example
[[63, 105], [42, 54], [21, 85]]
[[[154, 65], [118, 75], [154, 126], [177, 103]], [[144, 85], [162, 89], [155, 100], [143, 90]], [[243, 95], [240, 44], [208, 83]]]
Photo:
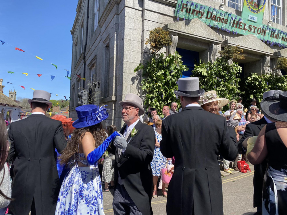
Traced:
[[104, 47], [104, 69], [102, 73], [102, 96], [104, 98], [109, 97], [109, 69], [110, 69], [110, 58], [109, 58], [109, 44]]

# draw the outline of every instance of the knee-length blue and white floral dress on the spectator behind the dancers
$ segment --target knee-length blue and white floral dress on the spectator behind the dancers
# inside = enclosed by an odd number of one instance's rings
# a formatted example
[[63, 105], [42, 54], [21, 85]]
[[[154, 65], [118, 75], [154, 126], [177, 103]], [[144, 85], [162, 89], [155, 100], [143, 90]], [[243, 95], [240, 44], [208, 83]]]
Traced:
[[[155, 130], [155, 137], [157, 138], [158, 142], [160, 142], [162, 139], [161, 134], [157, 133], [156, 130]], [[160, 148], [155, 146], [155, 150], [153, 153], [153, 160], [151, 162], [151, 170], [153, 171], [154, 176], [160, 176], [161, 175], [161, 169], [165, 168], [166, 160], [167, 160], [167, 158], [165, 158], [161, 154]]]

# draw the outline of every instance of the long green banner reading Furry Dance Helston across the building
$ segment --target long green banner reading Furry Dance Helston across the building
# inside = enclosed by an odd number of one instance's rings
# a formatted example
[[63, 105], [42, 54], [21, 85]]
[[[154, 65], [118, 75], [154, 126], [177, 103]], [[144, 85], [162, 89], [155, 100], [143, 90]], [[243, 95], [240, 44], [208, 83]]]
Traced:
[[[183, 20], [199, 18], [210, 28], [217, 28], [217, 31], [221, 29], [232, 34], [253, 34], [270, 46], [287, 47], [287, 32], [269, 28], [269, 26], [262, 23], [255, 23], [255, 20], [248, 20], [247, 17], [242, 18], [241, 16], [215, 9], [211, 6], [194, 3], [190, 0], [178, 0], [174, 16], [177, 16], [178, 20], [179, 18], [183, 18]], [[257, 16], [257, 20], [259, 20], [259, 16]]]

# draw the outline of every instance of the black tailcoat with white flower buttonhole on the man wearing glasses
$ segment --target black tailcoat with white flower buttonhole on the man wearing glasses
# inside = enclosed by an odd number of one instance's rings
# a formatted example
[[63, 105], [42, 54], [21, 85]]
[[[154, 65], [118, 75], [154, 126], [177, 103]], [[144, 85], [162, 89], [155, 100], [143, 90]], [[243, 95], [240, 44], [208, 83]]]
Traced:
[[[155, 149], [155, 131], [149, 126], [138, 123], [134, 127], [137, 132], [127, 139], [128, 146], [118, 159], [115, 146], [109, 151], [115, 155], [115, 183], [118, 183], [118, 173], [129, 196], [143, 215], [153, 214], [151, 196], [153, 192], [153, 173], [151, 161]], [[124, 134], [126, 125], [120, 133]]]

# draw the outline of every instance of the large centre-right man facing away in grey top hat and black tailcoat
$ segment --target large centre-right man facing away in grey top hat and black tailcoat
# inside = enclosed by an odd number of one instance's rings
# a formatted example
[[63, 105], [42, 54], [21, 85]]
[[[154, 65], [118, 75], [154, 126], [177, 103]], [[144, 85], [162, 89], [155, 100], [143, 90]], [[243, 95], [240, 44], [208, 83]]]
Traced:
[[174, 156], [174, 174], [168, 186], [167, 215], [223, 215], [222, 184], [217, 155], [234, 160], [238, 153], [233, 120], [209, 113], [198, 104], [204, 90], [199, 78], [179, 78], [182, 111], [162, 121], [160, 150]]

